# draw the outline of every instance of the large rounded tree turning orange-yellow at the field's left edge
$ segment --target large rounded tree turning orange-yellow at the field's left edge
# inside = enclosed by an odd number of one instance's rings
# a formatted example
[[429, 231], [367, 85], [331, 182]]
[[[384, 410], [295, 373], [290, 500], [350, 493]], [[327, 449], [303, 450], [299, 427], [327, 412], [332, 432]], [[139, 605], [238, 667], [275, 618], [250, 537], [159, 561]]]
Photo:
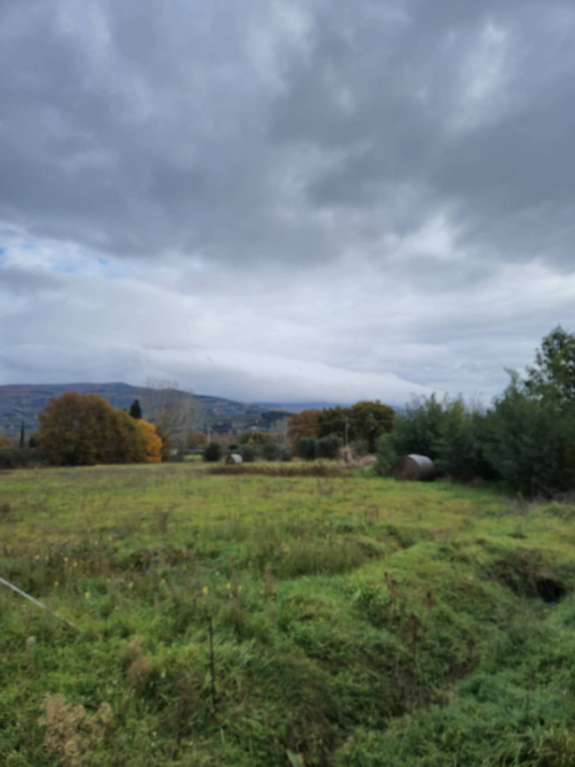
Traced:
[[162, 440], [146, 421], [111, 407], [98, 394], [66, 391], [39, 415], [38, 449], [54, 466], [160, 461]]

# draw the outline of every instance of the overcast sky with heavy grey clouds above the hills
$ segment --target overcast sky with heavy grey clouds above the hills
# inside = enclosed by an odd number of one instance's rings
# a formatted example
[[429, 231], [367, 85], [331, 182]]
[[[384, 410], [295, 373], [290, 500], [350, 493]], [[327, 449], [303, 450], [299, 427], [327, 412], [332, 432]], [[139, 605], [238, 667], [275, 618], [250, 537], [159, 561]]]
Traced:
[[575, 329], [572, 0], [0, 0], [0, 384], [489, 401]]

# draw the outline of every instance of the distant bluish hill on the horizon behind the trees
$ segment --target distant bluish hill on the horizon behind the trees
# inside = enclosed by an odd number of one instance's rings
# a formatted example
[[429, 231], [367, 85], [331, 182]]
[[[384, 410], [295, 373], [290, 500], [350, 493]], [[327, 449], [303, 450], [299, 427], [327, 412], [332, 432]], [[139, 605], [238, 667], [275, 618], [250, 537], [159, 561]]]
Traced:
[[[65, 391], [78, 391], [80, 394], [99, 394], [113, 407], [127, 410], [134, 399], [139, 399], [143, 416], [146, 417], [146, 400], [154, 395], [154, 390], [145, 386], [130, 384], [8, 384], [0, 386], [0, 433], [9, 437], [19, 434], [23, 421], [27, 434], [38, 429], [38, 414], [48, 404], [51, 397], [59, 397]], [[195, 397], [203, 408], [203, 426], [209, 426], [215, 432], [230, 430], [258, 429], [270, 431], [278, 428], [284, 418], [294, 410], [280, 407], [250, 405], [235, 402], [232, 399], [191, 395], [187, 391], [177, 391], [182, 400]]]

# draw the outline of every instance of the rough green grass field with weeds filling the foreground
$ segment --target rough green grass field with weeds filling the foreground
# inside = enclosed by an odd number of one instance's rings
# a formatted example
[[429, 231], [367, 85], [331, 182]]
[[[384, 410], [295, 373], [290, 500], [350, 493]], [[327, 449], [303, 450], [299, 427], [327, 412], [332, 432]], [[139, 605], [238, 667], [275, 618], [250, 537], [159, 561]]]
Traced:
[[0, 586], [0, 764], [572, 765], [574, 545], [574, 506], [361, 471], [0, 473], [52, 611]]

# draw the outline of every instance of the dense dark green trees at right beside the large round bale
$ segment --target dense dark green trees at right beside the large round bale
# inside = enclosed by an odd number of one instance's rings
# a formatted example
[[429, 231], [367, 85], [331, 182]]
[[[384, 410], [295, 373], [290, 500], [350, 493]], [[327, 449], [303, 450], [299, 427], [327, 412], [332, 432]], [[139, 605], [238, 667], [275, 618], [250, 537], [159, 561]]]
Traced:
[[376, 470], [387, 475], [398, 455], [420, 453], [458, 481], [502, 480], [525, 495], [575, 488], [575, 336], [560, 326], [543, 338], [534, 364], [492, 407], [435, 395], [413, 402], [380, 439]]

